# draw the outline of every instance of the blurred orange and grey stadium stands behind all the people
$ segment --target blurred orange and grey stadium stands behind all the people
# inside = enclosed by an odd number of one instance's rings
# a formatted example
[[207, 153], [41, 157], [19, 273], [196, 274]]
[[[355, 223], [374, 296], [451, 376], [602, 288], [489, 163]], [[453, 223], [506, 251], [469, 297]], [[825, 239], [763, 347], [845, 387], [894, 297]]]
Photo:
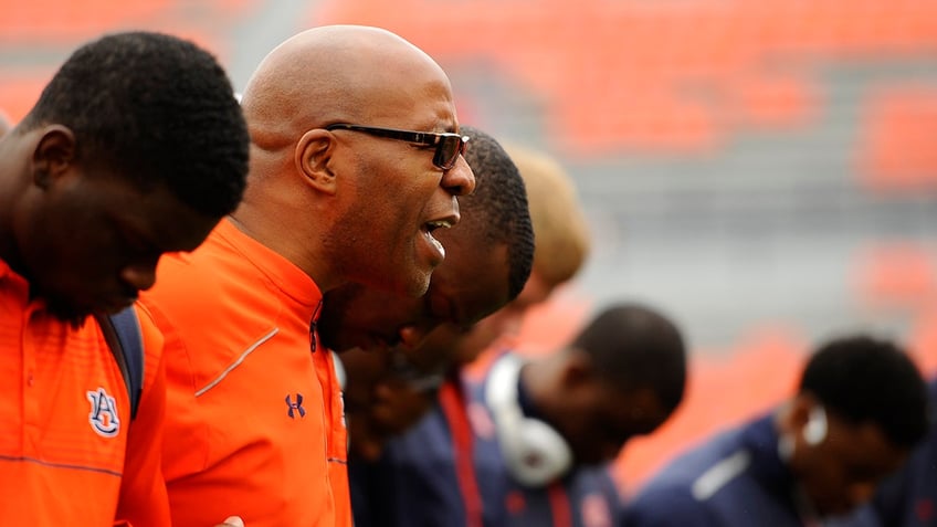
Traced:
[[687, 398], [621, 456], [625, 486], [789, 393], [830, 336], [895, 337], [937, 371], [934, 0], [0, 0], [0, 109], [22, 118], [105, 32], [187, 36], [241, 89], [328, 23], [419, 45], [462, 123], [575, 178], [594, 250], [531, 313], [531, 352], [618, 299], [684, 329]]

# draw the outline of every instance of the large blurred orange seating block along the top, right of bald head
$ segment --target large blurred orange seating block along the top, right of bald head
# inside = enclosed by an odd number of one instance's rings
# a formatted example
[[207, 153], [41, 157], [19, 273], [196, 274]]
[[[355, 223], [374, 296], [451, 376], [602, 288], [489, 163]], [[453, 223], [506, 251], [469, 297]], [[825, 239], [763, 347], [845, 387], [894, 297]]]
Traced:
[[557, 146], [581, 156], [802, 127], [819, 64], [937, 49], [927, 0], [326, 0], [310, 21], [382, 25], [448, 64], [484, 57], [548, 102]]

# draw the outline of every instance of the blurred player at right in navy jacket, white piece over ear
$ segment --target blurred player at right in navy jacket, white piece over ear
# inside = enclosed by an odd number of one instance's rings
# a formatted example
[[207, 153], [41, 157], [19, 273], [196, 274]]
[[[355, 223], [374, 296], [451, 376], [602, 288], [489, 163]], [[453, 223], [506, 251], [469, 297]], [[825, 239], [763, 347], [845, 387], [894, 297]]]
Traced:
[[926, 387], [897, 345], [821, 346], [780, 408], [677, 456], [625, 508], [624, 527], [818, 526], [866, 503], [928, 425]]

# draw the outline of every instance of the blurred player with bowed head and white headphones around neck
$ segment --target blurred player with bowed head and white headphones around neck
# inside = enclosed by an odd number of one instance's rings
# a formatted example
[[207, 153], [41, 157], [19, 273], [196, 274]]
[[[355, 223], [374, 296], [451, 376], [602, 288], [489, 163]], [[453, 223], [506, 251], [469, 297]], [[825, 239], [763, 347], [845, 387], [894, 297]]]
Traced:
[[680, 330], [635, 304], [603, 309], [543, 357], [502, 355], [468, 403], [484, 525], [613, 525], [608, 464], [670, 418], [685, 386]]

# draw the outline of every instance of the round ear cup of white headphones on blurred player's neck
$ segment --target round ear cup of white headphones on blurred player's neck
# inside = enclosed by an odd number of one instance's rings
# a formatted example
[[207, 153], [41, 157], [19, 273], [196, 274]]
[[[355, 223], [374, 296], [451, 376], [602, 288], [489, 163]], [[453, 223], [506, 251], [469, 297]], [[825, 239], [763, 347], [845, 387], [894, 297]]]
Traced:
[[572, 465], [572, 452], [566, 440], [547, 423], [524, 419], [507, 441], [506, 462], [512, 474], [524, 485], [541, 486], [560, 477]]

